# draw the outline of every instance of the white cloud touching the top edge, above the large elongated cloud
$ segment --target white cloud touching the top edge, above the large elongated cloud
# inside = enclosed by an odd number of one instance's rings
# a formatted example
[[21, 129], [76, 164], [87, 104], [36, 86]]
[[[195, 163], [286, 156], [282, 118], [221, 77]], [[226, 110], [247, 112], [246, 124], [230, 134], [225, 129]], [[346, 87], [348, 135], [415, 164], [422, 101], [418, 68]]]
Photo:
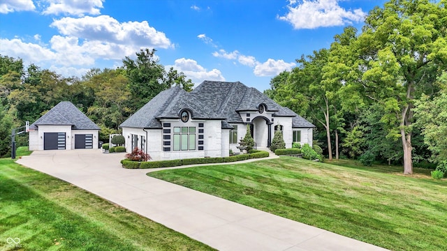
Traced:
[[76, 15], [82, 17], [85, 14], [89, 15], [99, 15], [101, 14], [100, 9], [103, 8], [104, 0], [46, 0], [50, 3], [50, 6], [47, 6], [45, 10], [43, 10], [44, 15]]

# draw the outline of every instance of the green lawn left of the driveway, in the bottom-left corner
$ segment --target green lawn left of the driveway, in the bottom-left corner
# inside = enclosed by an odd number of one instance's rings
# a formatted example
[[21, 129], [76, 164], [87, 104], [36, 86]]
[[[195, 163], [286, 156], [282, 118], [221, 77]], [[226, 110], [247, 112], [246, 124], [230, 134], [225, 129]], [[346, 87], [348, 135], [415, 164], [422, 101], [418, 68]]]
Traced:
[[[11, 240], [20, 243], [15, 245]], [[70, 183], [3, 158], [0, 250], [212, 248]]]

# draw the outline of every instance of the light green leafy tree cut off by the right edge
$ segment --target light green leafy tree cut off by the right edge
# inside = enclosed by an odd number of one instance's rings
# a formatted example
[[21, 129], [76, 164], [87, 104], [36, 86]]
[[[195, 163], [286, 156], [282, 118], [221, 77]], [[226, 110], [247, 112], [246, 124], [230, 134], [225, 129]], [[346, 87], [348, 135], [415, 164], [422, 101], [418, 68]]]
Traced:
[[432, 151], [432, 160], [442, 162], [447, 160], [447, 73], [439, 77], [441, 91], [430, 100], [430, 96], [423, 94], [416, 100], [416, 123], [414, 126], [422, 128], [423, 141]]

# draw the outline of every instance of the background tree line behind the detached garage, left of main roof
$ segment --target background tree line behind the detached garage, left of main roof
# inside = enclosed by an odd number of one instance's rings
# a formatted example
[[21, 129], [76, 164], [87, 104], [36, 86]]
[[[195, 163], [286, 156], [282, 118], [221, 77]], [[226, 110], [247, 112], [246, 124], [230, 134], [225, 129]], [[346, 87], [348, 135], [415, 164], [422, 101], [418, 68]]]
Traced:
[[[62, 77], [34, 64], [24, 68], [22, 59], [0, 55], [0, 156], [10, 154], [12, 128], [33, 123], [61, 101], [71, 101], [100, 128], [100, 140], [159, 92], [171, 86], [191, 91], [184, 73], [159, 63], [155, 50], [140, 50], [126, 57], [117, 69], [93, 68], [81, 78]], [[17, 146], [27, 146], [26, 134]]]

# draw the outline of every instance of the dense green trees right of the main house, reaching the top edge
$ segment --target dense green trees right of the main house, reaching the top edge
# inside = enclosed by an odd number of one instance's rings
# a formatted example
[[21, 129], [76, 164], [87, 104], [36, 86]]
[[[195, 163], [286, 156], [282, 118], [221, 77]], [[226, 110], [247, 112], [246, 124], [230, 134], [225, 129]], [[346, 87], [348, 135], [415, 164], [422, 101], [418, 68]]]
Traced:
[[391, 0], [265, 93], [317, 126], [330, 160], [447, 160], [447, 1]]

